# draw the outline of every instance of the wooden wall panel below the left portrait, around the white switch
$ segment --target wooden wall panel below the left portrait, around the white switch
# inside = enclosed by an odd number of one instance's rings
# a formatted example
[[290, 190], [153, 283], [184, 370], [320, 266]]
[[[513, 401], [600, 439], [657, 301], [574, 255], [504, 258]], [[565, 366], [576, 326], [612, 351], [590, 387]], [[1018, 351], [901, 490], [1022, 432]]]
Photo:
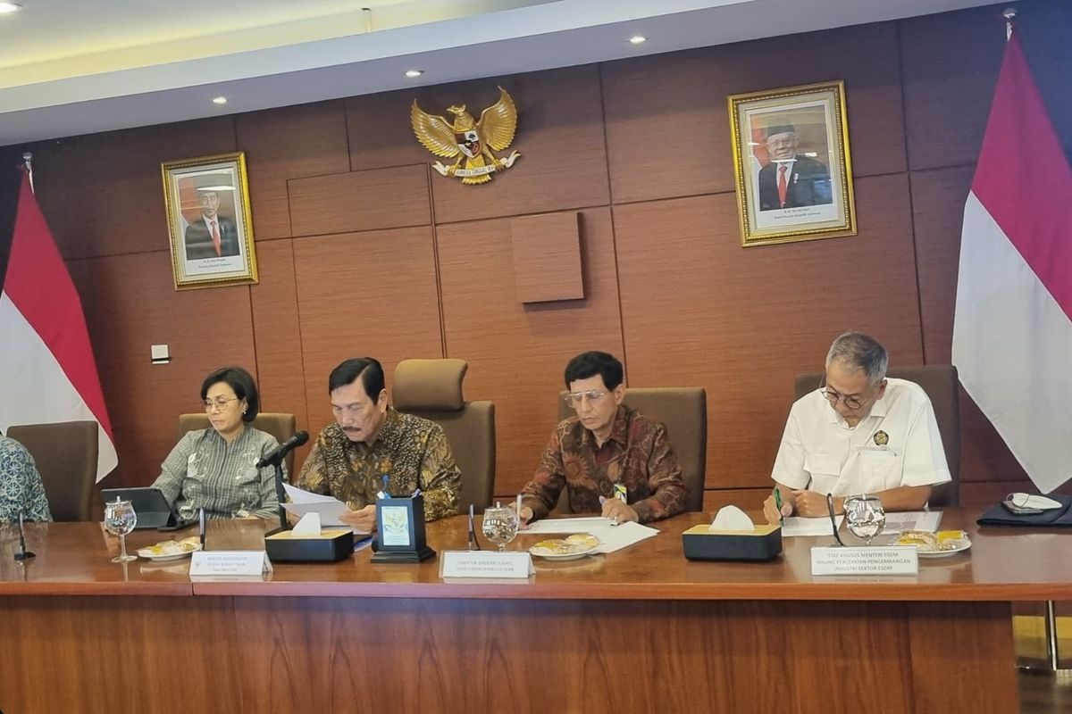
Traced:
[[[175, 446], [179, 414], [202, 411], [200, 385], [218, 367], [256, 371], [250, 288], [176, 291], [167, 253], [75, 260], [119, 468], [108, 486], [146, 486]], [[170, 346], [153, 365], [149, 346]]]

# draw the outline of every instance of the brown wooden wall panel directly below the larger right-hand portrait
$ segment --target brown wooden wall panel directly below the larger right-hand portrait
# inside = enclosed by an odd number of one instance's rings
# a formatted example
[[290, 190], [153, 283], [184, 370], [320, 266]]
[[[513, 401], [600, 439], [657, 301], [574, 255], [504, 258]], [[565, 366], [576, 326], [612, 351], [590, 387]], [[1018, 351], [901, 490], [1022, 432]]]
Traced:
[[709, 488], [770, 483], [793, 377], [843, 330], [922, 363], [907, 178], [857, 200], [859, 236], [750, 248], [730, 194], [615, 207], [629, 385], [708, 390]]

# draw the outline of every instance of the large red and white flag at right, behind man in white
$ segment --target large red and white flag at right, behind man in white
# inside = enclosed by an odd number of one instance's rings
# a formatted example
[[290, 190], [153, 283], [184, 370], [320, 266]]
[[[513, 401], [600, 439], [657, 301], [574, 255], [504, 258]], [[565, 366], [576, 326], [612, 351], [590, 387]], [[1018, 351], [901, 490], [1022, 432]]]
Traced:
[[1072, 170], [1015, 33], [964, 209], [953, 364], [1039, 490], [1072, 477]]

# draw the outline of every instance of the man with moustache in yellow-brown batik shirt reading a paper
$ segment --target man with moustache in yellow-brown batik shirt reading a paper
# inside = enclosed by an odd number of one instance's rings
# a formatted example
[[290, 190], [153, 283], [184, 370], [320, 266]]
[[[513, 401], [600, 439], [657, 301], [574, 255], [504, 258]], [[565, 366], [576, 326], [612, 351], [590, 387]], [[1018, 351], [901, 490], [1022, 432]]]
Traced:
[[346, 503], [340, 520], [362, 531], [375, 528], [377, 491], [410, 496], [419, 487], [425, 520], [458, 513], [461, 472], [443, 428], [387, 404], [379, 362], [346, 360], [331, 370], [328, 394], [336, 423], [316, 438], [296, 486]]

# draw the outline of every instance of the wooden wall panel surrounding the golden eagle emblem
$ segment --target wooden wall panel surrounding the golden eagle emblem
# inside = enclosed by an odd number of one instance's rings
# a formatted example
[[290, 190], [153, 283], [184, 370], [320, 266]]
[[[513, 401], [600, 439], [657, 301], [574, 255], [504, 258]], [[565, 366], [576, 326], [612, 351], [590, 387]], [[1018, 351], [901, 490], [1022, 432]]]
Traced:
[[436, 223], [606, 204], [602, 104], [594, 64], [349, 98], [353, 170], [432, 164], [437, 158], [420, 146], [410, 125], [413, 101], [451, 122], [447, 107], [464, 104], [479, 119], [497, 101], [496, 86], [518, 106], [518, 132], [507, 153], [517, 150], [521, 157], [488, 185], [464, 186], [460, 179], [433, 173]]

